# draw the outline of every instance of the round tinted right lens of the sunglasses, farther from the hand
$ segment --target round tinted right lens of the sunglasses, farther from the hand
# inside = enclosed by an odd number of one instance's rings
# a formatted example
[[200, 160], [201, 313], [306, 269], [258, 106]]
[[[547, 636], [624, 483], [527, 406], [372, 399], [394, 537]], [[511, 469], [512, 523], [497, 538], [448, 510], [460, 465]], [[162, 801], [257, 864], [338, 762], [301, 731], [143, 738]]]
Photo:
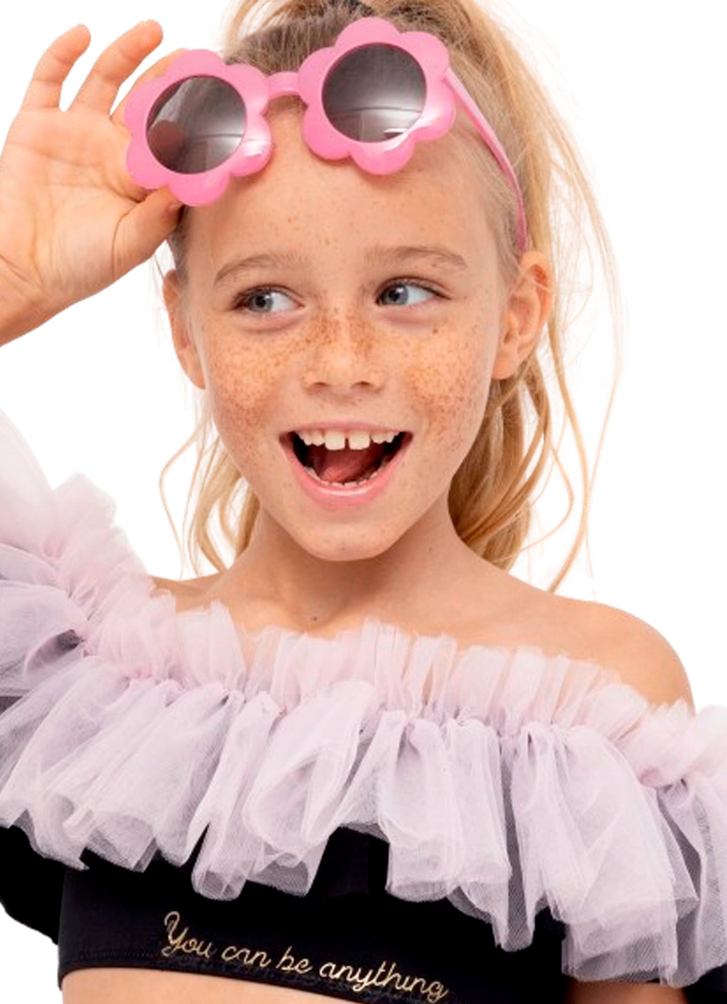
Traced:
[[419, 63], [394, 45], [364, 45], [331, 68], [323, 107], [339, 133], [383, 143], [405, 133], [422, 112], [426, 80]]

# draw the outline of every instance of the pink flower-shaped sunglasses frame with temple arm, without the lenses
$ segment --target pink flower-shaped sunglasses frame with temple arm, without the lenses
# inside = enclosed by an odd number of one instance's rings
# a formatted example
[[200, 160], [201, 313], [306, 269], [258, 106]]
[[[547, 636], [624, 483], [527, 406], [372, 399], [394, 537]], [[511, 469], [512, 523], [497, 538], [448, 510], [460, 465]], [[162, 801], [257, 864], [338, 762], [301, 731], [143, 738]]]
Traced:
[[[424, 74], [426, 98], [419, 118], [406, 132], [386, 142], [360, 143], [339, 133], [330, 122], [324, 109], [323, 87], [328, 72], [342, 56], [370, 44], [393, 45], [412, 56]], [[217, 77], [235, 87], [244, 100], [247, 120], [245, 136], [227, 160], [210, 171], [188, 175], [169, 170], [154, 158], [146, 142], [146, 122], [167, 87], [193, 76]], [[128, 173], [148, 190], [166, 185], [185, 205], [204, 206], [214, 202], [225, 192], [232, 176], [254, 174], [270, 160], [273, 141], [265, 111], [272, 98], [284, 94], [295, 94], [307, 105], [303, 138], [314, 154], [328, 161], [350, 157], [363, 171], [375, 175], [399, 171], [418, 142], [444, 136], [454, 123], [458, 101], [516, 197], [518, 253], [525, 250], [525, 211], [512, 165], [491, 126], [449, 65], [446, 46], [426, 31], [400, 32], [382, 17], [362, 17], [349, 24], [334, 45], [313, 52], [297, 72], [267, 76], [247, 63], [226, 63], [209, 49], [185, 52], [161, 76], [137, 84], [128, 95], [124, 108], [131, 135], [126, 153]]]

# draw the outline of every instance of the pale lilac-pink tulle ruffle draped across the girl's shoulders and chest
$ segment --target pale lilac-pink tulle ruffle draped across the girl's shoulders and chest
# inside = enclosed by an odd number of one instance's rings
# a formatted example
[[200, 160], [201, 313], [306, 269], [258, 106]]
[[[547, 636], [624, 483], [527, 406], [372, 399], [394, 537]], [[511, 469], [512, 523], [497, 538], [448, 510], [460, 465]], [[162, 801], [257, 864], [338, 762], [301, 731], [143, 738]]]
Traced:
[[112, 499], [51, 489], [0, 412], [0, 825], [83, 868], [185, 862], [198, 893], [310, 890], [337, 827], [387, 892], [447, 898], [578, 980], [682, 987], [727, 963], [727, 708], [617, 673], [368, 619], [335, 639], [176, 613]]

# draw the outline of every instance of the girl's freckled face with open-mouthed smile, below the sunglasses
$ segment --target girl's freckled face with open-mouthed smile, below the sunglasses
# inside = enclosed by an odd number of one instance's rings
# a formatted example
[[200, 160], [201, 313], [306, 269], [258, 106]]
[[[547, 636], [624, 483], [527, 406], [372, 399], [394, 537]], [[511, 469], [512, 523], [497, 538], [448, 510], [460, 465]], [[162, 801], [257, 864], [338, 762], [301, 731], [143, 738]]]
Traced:
[[[193, 380], [261, 519], [321, 558], [373, 557], [448, 520], [449, 484], [484, 412], [504, 290], [481, 181], [453, 134], [373, 176], [313, 155], [295, 111], [271, 126], [268, 167], [191, 213]], [[392, 250], [424, 245], [463, 264]], [[229, 269], [266, 253], [297, 260]], [[344, 421], [413, 441], [381, 495], [330, 512], [298, 486], [280, 437]]]

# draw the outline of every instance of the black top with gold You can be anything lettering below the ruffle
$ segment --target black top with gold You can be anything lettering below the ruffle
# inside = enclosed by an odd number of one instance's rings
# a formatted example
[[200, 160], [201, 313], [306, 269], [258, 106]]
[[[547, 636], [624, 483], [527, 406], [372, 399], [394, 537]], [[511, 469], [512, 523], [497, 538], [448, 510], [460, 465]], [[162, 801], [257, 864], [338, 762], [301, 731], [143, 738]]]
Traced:
[[368, 834], [337, 830], [303, 896], [249, 882], [227, 902], [194, 891], [192, 861], [158, 857], [129, 871], [86, 851], [88, 868], [78, 870], [38, 857], [16, 828], [0, 830], [0, 847], [23, 863], [0, 878], [0, 899], [57, 942], [59, 988], [75, 969], [130, 966], [354, 1001], [519, 1004], [535, 992], [565, 1000], [564, 930], [550, 911], [527, 948], [504, 952], [487, 925], [447, 900], [387, 894], [387, 844]]

